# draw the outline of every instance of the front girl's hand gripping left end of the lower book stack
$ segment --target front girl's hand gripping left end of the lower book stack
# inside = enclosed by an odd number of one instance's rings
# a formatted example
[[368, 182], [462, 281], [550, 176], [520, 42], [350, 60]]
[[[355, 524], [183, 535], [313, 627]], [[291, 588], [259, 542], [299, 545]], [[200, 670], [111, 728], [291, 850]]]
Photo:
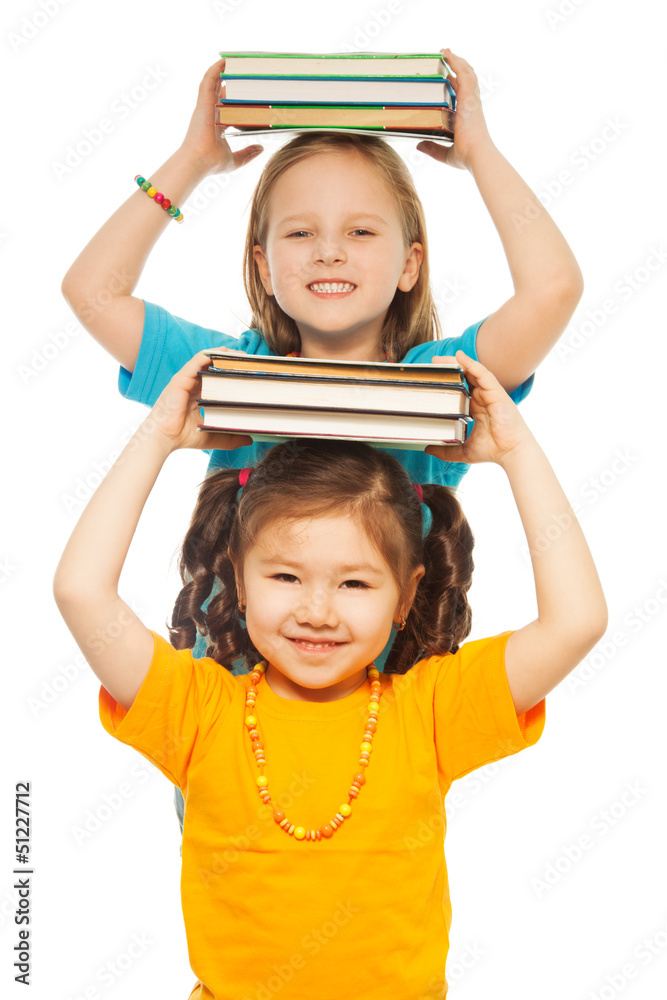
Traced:
[[222, 448], [231, 451], [252, 444], [252, 438], [247, 434], [223, 434], [198, 429], [197, 425], [202, 422], [197, 402], [201, 397], [201, 377], [198, 372], [207, 368], [209, 363], [208, 355], [202, 351], [183, 365], [162, 390], [144, 421], [143, 426], [147, 431], [164, 438], [169, 451], [179, 448]]

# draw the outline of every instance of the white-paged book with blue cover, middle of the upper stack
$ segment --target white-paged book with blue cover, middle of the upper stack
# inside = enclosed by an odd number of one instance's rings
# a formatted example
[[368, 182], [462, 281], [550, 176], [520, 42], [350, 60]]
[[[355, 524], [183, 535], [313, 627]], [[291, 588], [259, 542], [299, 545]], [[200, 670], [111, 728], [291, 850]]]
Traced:
[[375, 79], [373, 77], [229, 77], [225, 101], [250, 104], [407, 104], [452, 107], [445, 80]]

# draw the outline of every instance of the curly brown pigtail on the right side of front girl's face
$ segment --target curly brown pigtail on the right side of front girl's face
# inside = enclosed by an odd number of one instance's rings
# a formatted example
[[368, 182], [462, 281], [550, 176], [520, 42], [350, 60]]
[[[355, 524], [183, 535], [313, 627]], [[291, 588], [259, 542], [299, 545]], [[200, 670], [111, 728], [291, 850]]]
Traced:
[[474, 538], [461, 506], [446, 486], [422, 487], [431, 512], [424, 539], [425, 574], [405, 629], [398, 633], [384, 672], [404, 674], [422, 656], [455, 653], [470, 633]]

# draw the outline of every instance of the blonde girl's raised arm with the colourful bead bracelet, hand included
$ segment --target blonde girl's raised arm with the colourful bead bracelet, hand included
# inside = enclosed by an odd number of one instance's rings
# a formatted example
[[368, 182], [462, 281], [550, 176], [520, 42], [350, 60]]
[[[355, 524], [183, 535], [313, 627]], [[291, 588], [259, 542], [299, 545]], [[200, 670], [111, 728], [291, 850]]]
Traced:
[[[179, 149], [149, 179], [173, 205], [182, 206], [208, 175], [236, 170], [261, 153], [246, 146], [232, 153], [214, 124], [223, 95], [224, 59], [209, 67], [199, 86], [190, 126]], [[148, 175], [146, 175], [148, 176]], [[117, 361], [134, 371], [144, 325], [144, 305], [132, 292], [153, 246], [171, 219], [137, 189], [81, 251], [62, 292], [82, 326]]]

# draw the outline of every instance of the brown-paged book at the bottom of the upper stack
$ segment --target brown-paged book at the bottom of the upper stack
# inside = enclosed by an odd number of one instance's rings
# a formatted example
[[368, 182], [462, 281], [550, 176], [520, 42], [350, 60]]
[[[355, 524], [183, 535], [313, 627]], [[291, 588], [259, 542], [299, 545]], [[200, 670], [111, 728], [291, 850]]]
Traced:
[[450, 108], [410, 107], [407, 105], [294, 105], [236, 104], [221, 101], [216, 105], [217, 125], [238, 129], [250, 128], [357, 128], [430, 130], [454, 135], [454, 112]]

